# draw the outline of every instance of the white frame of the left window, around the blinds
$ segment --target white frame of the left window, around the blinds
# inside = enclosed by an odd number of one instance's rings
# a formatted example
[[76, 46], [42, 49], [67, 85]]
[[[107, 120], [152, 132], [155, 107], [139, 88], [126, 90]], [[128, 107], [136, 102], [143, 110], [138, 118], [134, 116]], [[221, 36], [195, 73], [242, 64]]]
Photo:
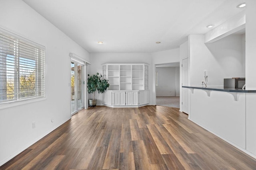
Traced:
[[[2, 32], [5, 35], [9, 35], [11, 37], [14, 37], [15, 39], [18, 39], [19, 41], [23, 41], [24, 43], [28, 43], [30, 45], [34, 45], [35, 48], [38, 49], [42, 49], [43, 50], [43, 57], [38, 57], [38, 59], [31, 59], [29, 56], [24, 56], [24, 55], [19, 55], [18, 53], [14, 53], [14, 96], [18, 95], [18, 98], [14, 98], [13, 100], [7, 100], [7, 96], [6, 96], [6, 100], [3, 100], [0, 102], [0, 109], [4, 109], [4, 108], [8, 108], [8, 107], [14, 107], [14, 106], [19, 106], [19, 105], [23, 105], [23, 104], [28, 104], [28, 103], [32, 103], [32, 102], [38, 102], [38, 101], [42, 101], [42, 100], [46, 100], [46, 66], [45, 66], [45, 61], [46, 61], [46, 48], [38, 43], [35, 43], [34, 41], [31, 41], [27, 38], [24, 38], [23, 36], [20, 36], [16, 33], [13, 33], [12, 31], [9, 31], [5, 28], [0, 27], [0, 32]], [[39, 50], [40, 51], [40, 50]], [[36, 53], [36, 52], [35, 52]], [[15, 55], [18, 54], [18, 55]], [[6, 55], [7, 56], [7, 55]], [[34, 96], [30, 96], [27, 98], [22, 98], [20, 96], [20, 58], [23, 59], [28, 59], [28, 60], [34, 60], [35, 61], [35, 74], [36, 74], [36, 78], [35, 78], [35, 89], [37, 88], [42, 88], [42, 84], [41, 84], [41, 76], [44, 78], [44, 86], [43, 86], [43, 90], [44, 90], [44, 95], [38, 95], [35, 93]], [[42, 61], [43, 60], [43, 61]], [[6, 59], [7, 61], [7, 59]], [[40, 65], [43, 64], [43, 65]], [[40, 74], [38, 74], [38, 72], [40, 72]], [[7, 77], [6, 77], [7, 78]], [[7, 82], [7, 80], [6, 80]], [[39, 86], [36, 86], [39, 85]], [[6, 85], [7, 87], [7, 85]], [[39, 92], [40, 90], [36, 90], [35, 92]]]

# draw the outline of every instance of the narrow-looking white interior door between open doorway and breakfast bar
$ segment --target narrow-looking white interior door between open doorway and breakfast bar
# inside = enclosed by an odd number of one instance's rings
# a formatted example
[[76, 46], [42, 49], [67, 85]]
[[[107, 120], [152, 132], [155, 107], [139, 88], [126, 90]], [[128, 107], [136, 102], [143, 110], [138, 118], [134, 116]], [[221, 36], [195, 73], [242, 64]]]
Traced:
[[[188, 58], [182, 60], [182, 86], [188, 86]], [[182, 88], [182, 111], [188, 114], [188, 88]]]

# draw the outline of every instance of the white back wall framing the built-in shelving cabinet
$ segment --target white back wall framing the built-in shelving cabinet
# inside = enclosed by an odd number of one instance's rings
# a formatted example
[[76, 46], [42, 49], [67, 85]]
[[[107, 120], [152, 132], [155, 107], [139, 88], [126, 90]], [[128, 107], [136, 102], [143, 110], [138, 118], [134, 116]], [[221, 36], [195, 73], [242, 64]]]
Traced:
[[[90, 54], [90, 71], [89, 74], [102, 73], [102, 65], [104, 63], [148, 63], [149, 64], [149, 90], [151, 93], [152, 70], [151, 54], [150, 53], [91, 53]], [[92, 95], [89, 95], [92, 96]], [[96, 92], [95, 98], [97, 105], [102, 105], [102, 94]], [[150, 104], [152, 103], [150, 96]]]

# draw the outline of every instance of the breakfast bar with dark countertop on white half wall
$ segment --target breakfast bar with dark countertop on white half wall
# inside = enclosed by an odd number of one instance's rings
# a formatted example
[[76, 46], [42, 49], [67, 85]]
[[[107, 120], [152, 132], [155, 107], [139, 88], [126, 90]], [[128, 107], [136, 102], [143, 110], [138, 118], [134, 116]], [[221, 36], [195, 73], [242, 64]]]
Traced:
[[182, 86], [188, 88], [188, 119], [250, 154], [246, 143], [251, 136], [248, 125], [253, 123], [246, 113], [246, 96], [256, 97], [256, 90], [223, 87]]

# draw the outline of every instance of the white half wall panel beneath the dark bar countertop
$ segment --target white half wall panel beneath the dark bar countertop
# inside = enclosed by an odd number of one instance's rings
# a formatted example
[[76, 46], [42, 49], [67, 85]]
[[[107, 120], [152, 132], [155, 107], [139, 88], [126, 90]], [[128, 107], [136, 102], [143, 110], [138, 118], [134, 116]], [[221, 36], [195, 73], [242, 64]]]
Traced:
[[[234, 93], [236, 94], [236, 93]], [[237, 93], [237, 101], [227, 92], [201, 89], [191, 93], [190, 120], [228, 141], [245, 149], [245, 93]]]

